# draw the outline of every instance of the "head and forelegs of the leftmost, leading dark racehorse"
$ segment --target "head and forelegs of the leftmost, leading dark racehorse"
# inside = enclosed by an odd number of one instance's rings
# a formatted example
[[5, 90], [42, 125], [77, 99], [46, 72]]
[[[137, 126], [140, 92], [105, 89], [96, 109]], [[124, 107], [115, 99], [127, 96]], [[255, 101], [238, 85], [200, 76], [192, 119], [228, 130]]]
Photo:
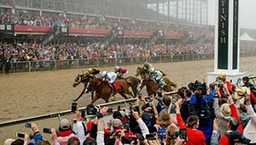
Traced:
[[[77, 102], [79, 100], [79, 98], [84, 95], [84, 92], [85, 92], [86, 86], [89, 82], [89, 79], [90, 79], [89, 73], [78, 74], [78, 76], [75, 78], [75, 80], [73, 82], [73, 87], [75, 88], [79, 84], [83, 83], [84, 89], [82, 90], [80, 95], [74, 100], [74, 102]], [[93, 91], [91, 91], [91, 93], [93, 93]], [[92, 98], [91, 98], [91, 100], [92, 100]]]

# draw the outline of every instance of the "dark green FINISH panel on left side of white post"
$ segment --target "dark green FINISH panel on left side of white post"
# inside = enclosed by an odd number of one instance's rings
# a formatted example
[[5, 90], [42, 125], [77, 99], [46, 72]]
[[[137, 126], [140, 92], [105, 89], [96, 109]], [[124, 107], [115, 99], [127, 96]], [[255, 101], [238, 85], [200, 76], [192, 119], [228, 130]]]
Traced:
[[218, 69], [228, 69], [229, 0], [218, 0]]

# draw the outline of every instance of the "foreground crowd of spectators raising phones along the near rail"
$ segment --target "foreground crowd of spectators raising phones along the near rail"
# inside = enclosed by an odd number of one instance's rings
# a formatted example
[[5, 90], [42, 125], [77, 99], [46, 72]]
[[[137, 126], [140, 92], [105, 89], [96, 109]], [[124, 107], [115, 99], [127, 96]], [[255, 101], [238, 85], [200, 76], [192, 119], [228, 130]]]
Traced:
[[[49, 131], [26, 123], [29, 133], [9, 138], [4, 145], [253, 144], [255, 95], [255, 86], [248, 77], [243, 77], [240, 84], [231, 84], [224, 74], [218, 74], [217, 81], [209, 86], [195, 81], [179, 88], [177, 95], [137, 96], [136, 107], [129, 109], [119, 107], [112, 112], [109, 107], [89, 104], [86, 114], [95, 118], [86, 121], [84, 113], [73, 109], [72, 121], [61, 119]], [[44, 136], [50, 136], [51, 141], [44, 140]]]

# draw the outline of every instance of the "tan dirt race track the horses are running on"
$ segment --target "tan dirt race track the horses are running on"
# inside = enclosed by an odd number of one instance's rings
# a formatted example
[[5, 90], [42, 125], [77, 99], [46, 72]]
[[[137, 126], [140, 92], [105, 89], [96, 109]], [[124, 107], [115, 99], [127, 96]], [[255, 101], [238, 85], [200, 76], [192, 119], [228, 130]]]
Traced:
[[[241, 72], [245, 72], [247, 75], [255, 74], [255, 61], [256, 57], [242, 58]], [[163, 70], [173, 82], [178, 84], [178, 87], [195, 81], [195, 79], [202, 80], [206, 78], [207, 72], [213, 70], [213, 61], [186, 61], [153, 65]], [[137, 65], [126, 68], [130, 75], [134, 75], [136, 67]], [[100, 69], [113, 70], [113, 67]], [[74, 78], [82, 70], [85, 68], [55, 72], [0, 74], [0, 122], [70, 109], [70, 103], [76, 96], [79, 96], [83, 88], [82, 85], [77, 88], [72, 87]], [[144, 90], [143, 94], [146, 95]], [[79, 107], [84, 107], [89, 102], [90, 96], [86, 95], [79, 100]], [[102, 102], [102, 100], [98, 100], [96, 103]], [[46, 122], [40, 121], [49, 126], [52, 126], [54, 122], [46, 124]], [[14, 133], [19, 128], [20, 125], [0, 128], [0, 144], [8, 137], [15, 137]]]

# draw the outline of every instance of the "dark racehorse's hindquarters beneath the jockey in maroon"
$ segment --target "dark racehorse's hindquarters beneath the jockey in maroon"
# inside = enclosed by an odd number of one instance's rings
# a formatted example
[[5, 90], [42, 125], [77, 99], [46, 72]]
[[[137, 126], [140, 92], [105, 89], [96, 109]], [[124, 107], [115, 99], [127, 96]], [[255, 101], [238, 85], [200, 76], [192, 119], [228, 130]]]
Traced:
[[126, 81], [126, 83], [129, 86], [131, 86], [131, 90], [133, 92], [133, 97], [137, 96], [137, 94], [139, 93], [138, 90], [137, 90], [137, 86], [141, 83], [139, 78], [132, 77], [132, 76], [129, 76], [127, 78], [122, 78], [121, 76], [118, 76], [117, 79], [124, 79]]

